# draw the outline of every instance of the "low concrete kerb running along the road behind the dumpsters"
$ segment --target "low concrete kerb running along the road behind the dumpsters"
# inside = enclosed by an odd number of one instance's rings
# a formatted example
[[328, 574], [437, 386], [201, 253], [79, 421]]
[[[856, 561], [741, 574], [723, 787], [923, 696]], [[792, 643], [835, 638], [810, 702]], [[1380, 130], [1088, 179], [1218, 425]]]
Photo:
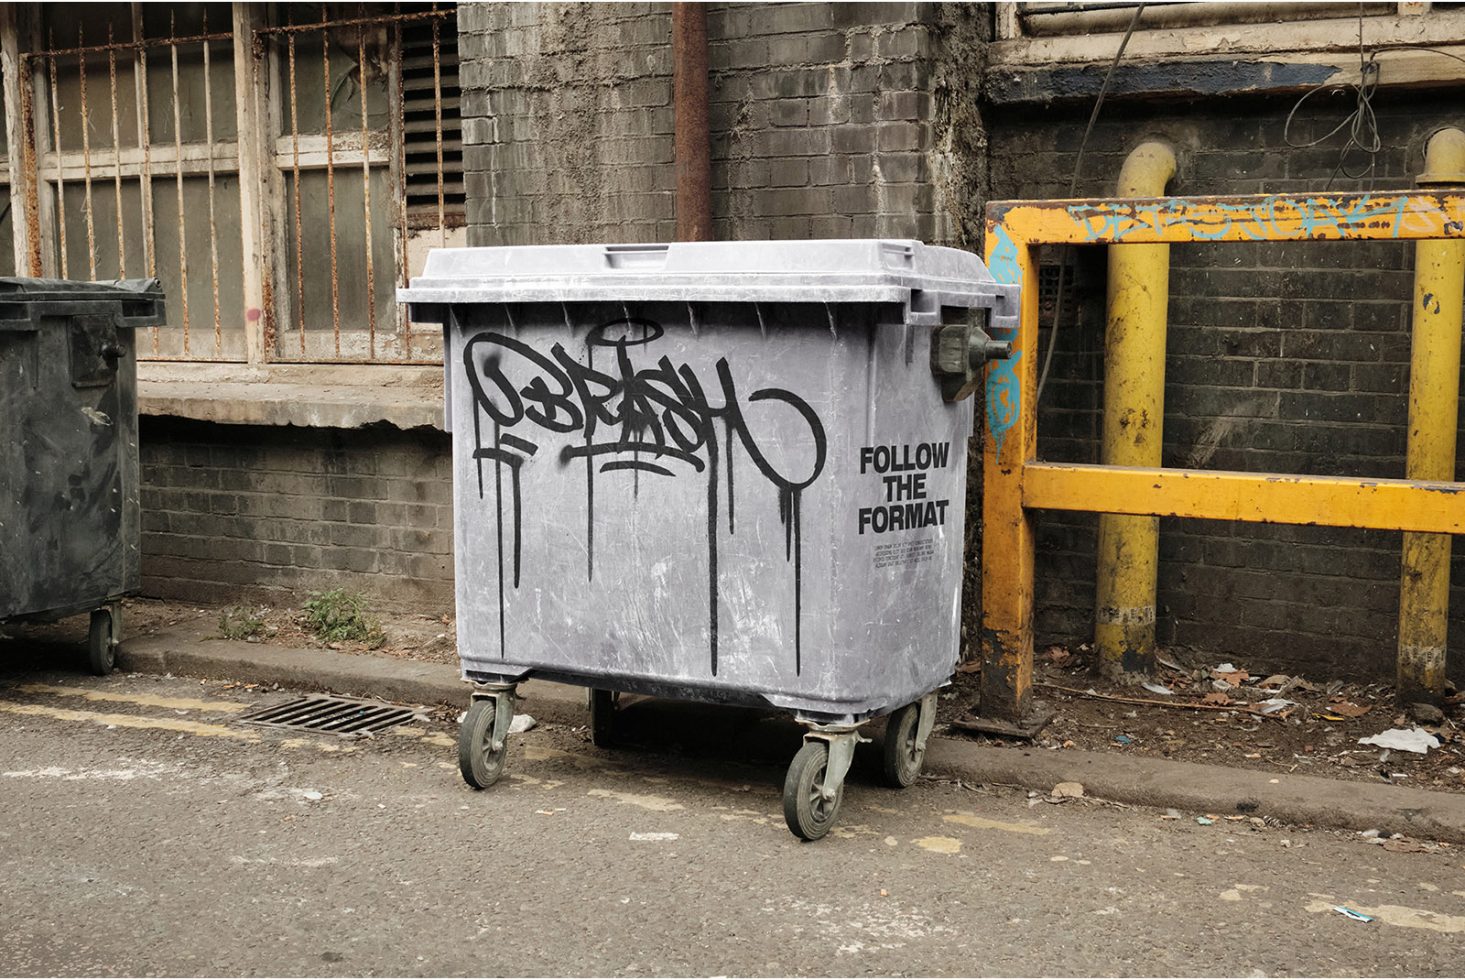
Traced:
[[[173, 674], [299, 690], [463, 708], [469, 684], [456, 667], [335, 650], [287, 649], [264, 643], [198, 640], [166, 633], [125, 640], [126, 671]], [[529, 681], [523, 705], [536, 719], [587, 722], [579, 687]], [[1188, 813], [1270, 816], [1286, 823], [1367, 831], [1465, 844], [1465, 795], [1320, 776], [1228, 769], [1140, 754], [1049, 751], [935, 738], [926, 771], [971, 784], [1014, 785], [1047, 792], [1081, 782], [1091, 798], [1130, 806], [1173, 807]]]

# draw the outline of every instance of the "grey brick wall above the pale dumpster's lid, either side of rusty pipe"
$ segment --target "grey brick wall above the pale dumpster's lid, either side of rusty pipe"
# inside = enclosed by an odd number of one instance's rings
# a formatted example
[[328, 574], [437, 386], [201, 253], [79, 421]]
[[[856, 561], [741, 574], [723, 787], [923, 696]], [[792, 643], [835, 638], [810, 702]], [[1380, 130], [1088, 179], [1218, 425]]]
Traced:
[[[716, 236], [974, 242], [984, 22], [709, 6]], [[473, 243], [674, 237], [668, 4], [463, 4], [459, 29]]]

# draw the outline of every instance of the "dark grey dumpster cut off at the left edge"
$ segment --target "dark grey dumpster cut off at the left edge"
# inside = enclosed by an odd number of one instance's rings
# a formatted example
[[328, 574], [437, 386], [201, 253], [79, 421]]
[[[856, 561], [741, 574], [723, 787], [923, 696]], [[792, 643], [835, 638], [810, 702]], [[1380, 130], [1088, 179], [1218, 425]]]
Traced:
[[133, 328], [161, 322], [157, 280], [0, 278], [0, 623], [91, 611], [98, 674], [142, 576]]

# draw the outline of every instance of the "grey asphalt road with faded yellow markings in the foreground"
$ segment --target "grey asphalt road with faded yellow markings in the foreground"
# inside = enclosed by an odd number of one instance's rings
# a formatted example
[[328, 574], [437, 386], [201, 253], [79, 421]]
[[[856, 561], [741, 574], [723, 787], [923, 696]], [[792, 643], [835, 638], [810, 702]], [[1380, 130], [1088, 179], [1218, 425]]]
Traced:
[[251, 728], [289, 693], [13, 653], [0, 973], [1434, 976], [1465, 948], [1465, 848], [860, 769], [801, 844], [797, 730], [746, 713], [639, 706], [618, 750], [539, 727], [475, 792], [451, 719]]

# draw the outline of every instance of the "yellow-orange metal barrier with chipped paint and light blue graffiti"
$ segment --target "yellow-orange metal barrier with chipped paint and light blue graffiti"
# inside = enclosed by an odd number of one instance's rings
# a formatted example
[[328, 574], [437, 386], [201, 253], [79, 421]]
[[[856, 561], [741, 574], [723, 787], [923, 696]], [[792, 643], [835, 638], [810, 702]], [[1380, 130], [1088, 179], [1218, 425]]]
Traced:
[[1465, 483], [1037, 463], [1037, 253], [1043, 245], [1465, 239], [1465, 189], [1439, 193], [1021, 201], [987, 207], [992, 275], [1023, 286], [1012, 356], [987, 365], [982, 703], [1031, 730], [1031, 508], [1465, 532]]

